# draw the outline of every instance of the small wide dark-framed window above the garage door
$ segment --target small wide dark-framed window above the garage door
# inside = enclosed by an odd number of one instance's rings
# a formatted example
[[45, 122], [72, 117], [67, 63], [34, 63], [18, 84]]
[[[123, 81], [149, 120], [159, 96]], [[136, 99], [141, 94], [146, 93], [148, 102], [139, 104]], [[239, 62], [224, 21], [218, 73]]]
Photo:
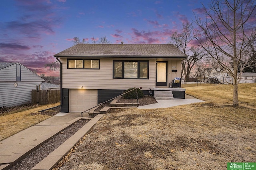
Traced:
[[100, 69], [100, 60], [91, 59], [68, 59], [68, 68]]

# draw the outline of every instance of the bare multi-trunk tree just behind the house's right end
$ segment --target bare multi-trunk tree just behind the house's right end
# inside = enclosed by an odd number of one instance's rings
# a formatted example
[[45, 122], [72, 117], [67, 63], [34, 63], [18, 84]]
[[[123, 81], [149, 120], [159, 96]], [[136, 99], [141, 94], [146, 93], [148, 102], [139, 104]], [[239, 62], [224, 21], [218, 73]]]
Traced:
[[185, 81], [189, 81], [191, 70], [194, 64], [204, 57], [204, 53], [199, 48], [195, 48], [191, 45], [191, 41], [195, 39], [192, 37], [192, 25], [191, 23], [183, 23], [182, 32], [175, 31], [171, 36], [171, 43], [176, 45], [184, 54], [188, 56], [182, 61], [182, 76], [185, 77]]

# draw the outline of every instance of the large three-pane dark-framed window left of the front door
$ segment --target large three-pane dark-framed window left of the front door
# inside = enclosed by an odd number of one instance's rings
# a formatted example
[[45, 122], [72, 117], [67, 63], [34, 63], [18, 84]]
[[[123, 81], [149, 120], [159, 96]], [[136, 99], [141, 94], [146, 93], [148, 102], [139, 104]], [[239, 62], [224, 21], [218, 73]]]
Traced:
[[149, 61], [113, 61], [113, 78], [148, 79]]

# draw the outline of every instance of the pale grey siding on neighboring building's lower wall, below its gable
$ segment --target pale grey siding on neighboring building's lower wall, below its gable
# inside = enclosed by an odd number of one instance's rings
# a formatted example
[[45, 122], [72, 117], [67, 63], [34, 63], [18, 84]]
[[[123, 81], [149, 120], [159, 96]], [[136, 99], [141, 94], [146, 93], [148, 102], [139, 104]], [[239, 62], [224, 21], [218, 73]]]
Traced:
[[41, 82], [0, 82], [0, 107], [11, 107], [31, 103], [31, 90], [36, 89], [36, 84]]

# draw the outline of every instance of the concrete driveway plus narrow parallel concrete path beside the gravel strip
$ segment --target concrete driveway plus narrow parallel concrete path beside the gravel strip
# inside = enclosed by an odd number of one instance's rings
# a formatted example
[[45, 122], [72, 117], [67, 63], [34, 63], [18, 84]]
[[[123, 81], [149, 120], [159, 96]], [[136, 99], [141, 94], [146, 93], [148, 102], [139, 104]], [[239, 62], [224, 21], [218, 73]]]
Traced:
[[[92, 128], [104, 115], [99, 114], [94, 118], [80, 117], [81, 113], [58, 113], [34, 126], [31, 126], [7, 139], [0, 141], [0, 170], [8, 170], [13, 164], [18, 163], [30, 152], [37, 149], [50, 137], [58, 134], [79, 119], [91, 119], [84, 127], [70, 137], [51, 155], [32, 169], [50, 170], [76, 143]], [[86, 116], [86, 115], [84, 115]], [[47, 161], [47, 163], [45, 163]]]

